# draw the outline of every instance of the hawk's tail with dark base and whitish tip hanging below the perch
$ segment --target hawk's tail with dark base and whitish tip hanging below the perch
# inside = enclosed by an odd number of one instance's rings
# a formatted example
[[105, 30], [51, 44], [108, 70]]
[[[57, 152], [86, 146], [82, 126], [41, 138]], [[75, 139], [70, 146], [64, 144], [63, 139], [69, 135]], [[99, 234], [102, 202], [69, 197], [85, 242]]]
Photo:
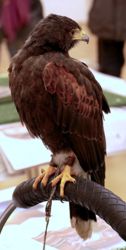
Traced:
[[92, 221], [96, 221], [96, 215], [87, 208], [70, 203], [71, 225], [81, 238], [86, 240], [92, 234]]

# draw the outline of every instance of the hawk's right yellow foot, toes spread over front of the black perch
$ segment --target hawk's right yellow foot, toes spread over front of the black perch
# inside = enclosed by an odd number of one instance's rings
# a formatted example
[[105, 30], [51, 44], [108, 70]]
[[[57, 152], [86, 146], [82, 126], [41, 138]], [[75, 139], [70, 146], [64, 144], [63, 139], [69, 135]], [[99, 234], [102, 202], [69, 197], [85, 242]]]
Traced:
[[60, 180], [60, 196], [64, 197], [64, 187], [66, 182], [73, 182], [75, 183], [76, 180], [70, 175], [71, 172], [71, 167], [69, 165], [66, 165], [64, 167], [64, 170], [61, 172], [61, 174], [59, 174], [57, 177], [55, 177], [51, 183], [52, 183], [52, 187], [54, 187]]

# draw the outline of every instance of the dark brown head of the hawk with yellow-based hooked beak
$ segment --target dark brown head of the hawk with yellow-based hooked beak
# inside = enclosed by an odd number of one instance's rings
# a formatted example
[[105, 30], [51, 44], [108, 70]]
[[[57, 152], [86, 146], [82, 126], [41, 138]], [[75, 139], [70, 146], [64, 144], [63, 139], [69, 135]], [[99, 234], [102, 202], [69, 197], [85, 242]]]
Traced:
[[50, 14], [32, 31], [25, 47], [39, 47], [42, 52], [68, 52], [78, 41], [89, 41], [88, 36], [74, 20]]

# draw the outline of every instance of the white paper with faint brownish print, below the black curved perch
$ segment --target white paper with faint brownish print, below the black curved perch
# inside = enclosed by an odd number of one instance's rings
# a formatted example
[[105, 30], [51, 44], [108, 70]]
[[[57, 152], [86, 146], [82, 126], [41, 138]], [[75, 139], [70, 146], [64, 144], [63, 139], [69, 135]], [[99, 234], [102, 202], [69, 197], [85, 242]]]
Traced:
[[[45, 232], [45, 204], [15, 211], [0, 234], [1, 250], [42, 249]], [[114, 250], [126, 246], [119, 235], [97, 216], [90, 239], [82, 240], [70, 226], [67, 202], [53, 201], [46, 250]], [[52, 222], [53, 221], [53, 222]]]

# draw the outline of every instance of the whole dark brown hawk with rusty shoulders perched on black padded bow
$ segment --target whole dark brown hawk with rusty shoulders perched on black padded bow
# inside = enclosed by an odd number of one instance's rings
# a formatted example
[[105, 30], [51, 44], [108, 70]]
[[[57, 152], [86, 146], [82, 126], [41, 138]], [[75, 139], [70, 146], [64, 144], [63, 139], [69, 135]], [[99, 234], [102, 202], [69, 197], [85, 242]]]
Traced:
[[[48, 168], [33, 187], [40, 181], [46, 186], [59, 168], [52, 186], [60, 182], [61, 197], [65, 183], [75, 183], [76, 176], [101, 185], [105, 179], [103, 111], [110, 110], [88, 66], [69, 55], [79, 41], [88, 42], [88, 36], [77, 22], [50, 14], [33, 29], [9, 67], [9, 85], [21, 122], [52, 152]], [[70, 202], [70, 217], [80, 237], [91, 236], [94, 212]]]

